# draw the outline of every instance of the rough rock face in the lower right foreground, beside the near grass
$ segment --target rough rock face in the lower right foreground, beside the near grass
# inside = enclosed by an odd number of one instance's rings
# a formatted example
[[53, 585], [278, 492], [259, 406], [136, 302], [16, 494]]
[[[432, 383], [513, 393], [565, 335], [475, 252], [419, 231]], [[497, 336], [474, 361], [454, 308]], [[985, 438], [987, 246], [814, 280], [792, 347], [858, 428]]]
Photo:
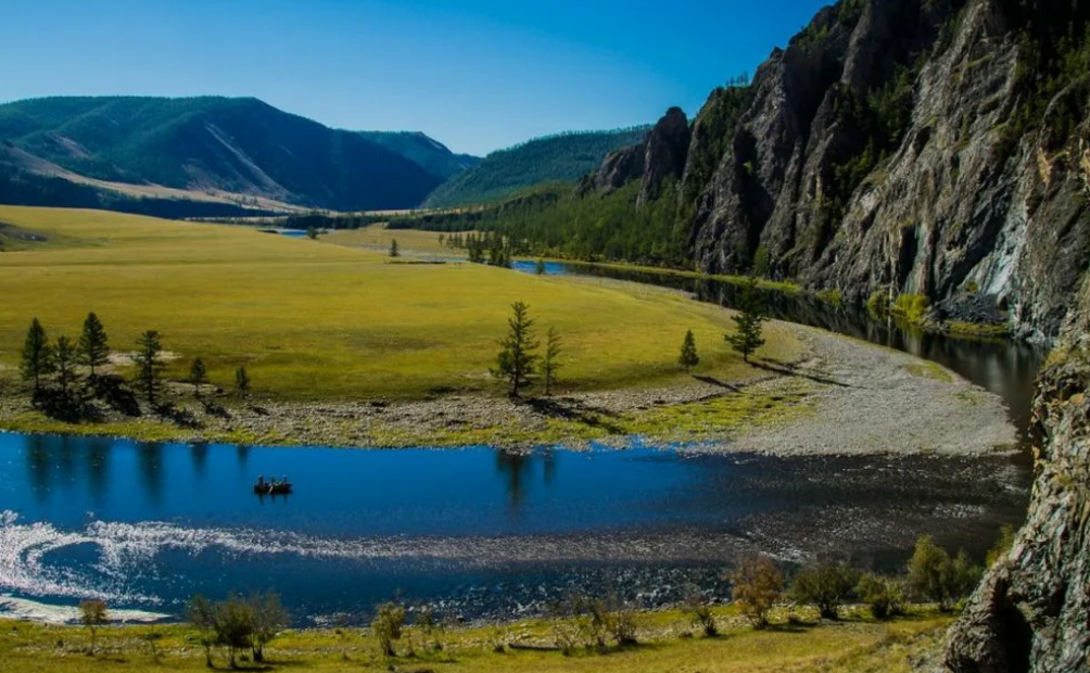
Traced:
[[950, 631], [943, 673], [1090, 671], [1090, 352], [1046, 370], [1026, 525]]

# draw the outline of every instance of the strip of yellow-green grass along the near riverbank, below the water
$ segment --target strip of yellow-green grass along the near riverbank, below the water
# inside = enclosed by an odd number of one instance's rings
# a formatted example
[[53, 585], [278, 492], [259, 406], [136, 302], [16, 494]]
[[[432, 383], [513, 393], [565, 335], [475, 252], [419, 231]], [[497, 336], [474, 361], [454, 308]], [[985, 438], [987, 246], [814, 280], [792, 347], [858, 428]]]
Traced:
[[[753, 631], [734, 613], [720, 609], [722, 635], [693, 636], [685, 615], [656, 612], [638, 616], [641, 645], [605, 651], [526, 651], [497, 644], [547, 646], [552, 643], [544, 621], [499, 627], [455, 628], [425, 637], [413, 628], [398, 643], [399, 657], [379, 656], [365, 629], [290, 632], [266, 650], [266, 662], [254, 670], [291, 671], [469, 671], [616, 672], [685, 671], [703, 673], [756, 673], [827, 671], [889, 673], [911, 670], [910, 660], [937, 650], [952, 617], [916, 612], [888, 623], [875, 623], [856, 613], [836, 622], [819, 623], [812, 616]], [[155, 640], [155, 654], [149, 644]], [[443, 649], [434, 647], [435, 641]], [[124, 626], [102, 628], [98, 653], [87, 656], [85, 631], [74, 626], [43, 626], [0, 621], [0, 671], [199, 671], [204, 653], [196, 634], [185, 626]], [[410, 652], [411, 645], [411, 652]], [[222, 657], [217, 665], [226, 668]], [[243, 662], [245, 669], [250, 664]]]

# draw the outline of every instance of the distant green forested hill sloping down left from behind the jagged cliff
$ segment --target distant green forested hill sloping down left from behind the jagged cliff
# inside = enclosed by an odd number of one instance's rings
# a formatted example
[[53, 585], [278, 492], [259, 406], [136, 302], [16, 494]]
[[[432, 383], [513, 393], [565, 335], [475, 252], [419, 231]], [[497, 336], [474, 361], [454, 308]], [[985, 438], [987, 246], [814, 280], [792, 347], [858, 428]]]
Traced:
[[638, 143], [645, 127], [562, 133], [494, 151], [444, 183], [425, 206], [440, 208], [495, 201], [549, 182], [576, 182], [609, 151]]

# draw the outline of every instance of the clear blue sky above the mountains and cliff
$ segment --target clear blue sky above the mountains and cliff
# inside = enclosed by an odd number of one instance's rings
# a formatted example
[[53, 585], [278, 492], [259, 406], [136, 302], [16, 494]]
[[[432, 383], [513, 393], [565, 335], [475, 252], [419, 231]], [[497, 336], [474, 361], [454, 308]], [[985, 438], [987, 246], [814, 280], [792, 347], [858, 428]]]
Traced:
[[486, 154], [695, 114], [819, 0], [0, 0], [0, 101], [255, 96]]

